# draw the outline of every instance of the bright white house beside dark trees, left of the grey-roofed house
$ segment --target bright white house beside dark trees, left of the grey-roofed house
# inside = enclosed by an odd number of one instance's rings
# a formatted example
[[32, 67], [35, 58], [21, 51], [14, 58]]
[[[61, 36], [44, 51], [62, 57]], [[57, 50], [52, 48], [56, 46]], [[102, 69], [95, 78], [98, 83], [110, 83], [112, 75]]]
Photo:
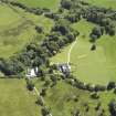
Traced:
[[39, 73], [39, 67], [28, 68], [25, 76], [27, 77], [36, 77]]

